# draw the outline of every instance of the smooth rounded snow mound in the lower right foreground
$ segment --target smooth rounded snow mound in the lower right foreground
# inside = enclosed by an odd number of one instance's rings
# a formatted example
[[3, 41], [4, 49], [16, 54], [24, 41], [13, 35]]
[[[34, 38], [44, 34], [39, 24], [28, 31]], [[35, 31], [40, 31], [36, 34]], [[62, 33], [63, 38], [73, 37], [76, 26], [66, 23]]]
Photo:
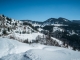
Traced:
[[[48, 50], [30, 50], [26, 55], [32, 60], [71, 60], [80, 59], [80, 52], [74, 52], [72, 50], [66, 50], [59, 48], [54, 50], [54, 47], [47, 48]], [[55, 48], [57, 49], [57, 47]], [[60, 50], [61, 49], [61, 50]], [[51, 51], [52, 50], [52, 51]]]

